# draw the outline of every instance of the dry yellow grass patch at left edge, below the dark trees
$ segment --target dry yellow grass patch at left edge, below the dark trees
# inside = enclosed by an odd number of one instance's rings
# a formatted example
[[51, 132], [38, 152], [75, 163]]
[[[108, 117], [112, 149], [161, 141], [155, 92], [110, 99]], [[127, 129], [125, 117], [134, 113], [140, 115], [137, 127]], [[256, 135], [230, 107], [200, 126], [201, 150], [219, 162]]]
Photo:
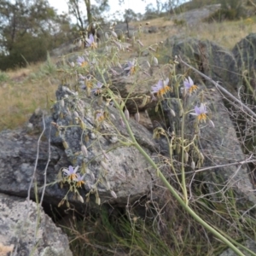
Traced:
[[38, 78], [37, 65], [7, 72], [8, 79], [0, 83], [0, 131], [24, 125], [36, 108], [48, 108], [55, 99], [54, 77]]

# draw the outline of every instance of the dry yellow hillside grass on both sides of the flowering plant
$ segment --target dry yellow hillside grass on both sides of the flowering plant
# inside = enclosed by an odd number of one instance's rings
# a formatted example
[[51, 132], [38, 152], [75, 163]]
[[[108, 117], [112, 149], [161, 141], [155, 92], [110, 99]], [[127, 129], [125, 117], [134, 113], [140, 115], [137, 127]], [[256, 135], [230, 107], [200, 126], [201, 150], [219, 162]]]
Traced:
[[[172, 20], [160, 17], [154, 20], [133, 22], [131, 26], [139, 27], [142, 33], [138, 34], [144, 47], [159, 44], [166, 38], [183, 34], [198, 39], [208, 39], [222, 45], [225, 49], [232, 49], [241, 38], [250, 32], [256, 31], [255, 18], [239, 21], [226, 21], [223, 23], [199, 23], [198, 26], [177, 26]], [[159, 28], [155, 33], [144, 33], [148, 26]], [[133, 53], [126, 53], [128, 58], [137, 52], [138, 45]], [[55, 62], [55, 61], [53, 61]], [[49, 99], [55, 99], [55, 90], [59, 83], [56, 73], [44, 73], [45, 63], [38, 63], [27, 68], [11, 70], [0, 73], [0, 131], [13, 129], [26, 123], [36, 108], [49, 107]], [[2, 78], [2, 79], [1, 79]]]

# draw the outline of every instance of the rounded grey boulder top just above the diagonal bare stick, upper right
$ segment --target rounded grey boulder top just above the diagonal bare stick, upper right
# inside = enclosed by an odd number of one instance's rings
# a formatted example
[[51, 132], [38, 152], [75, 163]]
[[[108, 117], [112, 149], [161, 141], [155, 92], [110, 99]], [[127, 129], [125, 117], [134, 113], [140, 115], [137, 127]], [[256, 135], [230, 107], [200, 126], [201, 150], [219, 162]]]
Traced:
[[[178, 36], [167, 38], [165, 45], [172, 49], [172, 56], [180, 55], [183, 61], [187, 61], [192, 67], [197, 68], [214, 81], [220, 82], [226, 90], [233, 94], [236, 93], [241, 79], [236, 60], [229, 50], [208, 40], [201, 41]], [[184, 72], [184, 67], [182, 68]], [[207, 81], [201, 82], [205, 82], [208, 87], [212, 86]]]

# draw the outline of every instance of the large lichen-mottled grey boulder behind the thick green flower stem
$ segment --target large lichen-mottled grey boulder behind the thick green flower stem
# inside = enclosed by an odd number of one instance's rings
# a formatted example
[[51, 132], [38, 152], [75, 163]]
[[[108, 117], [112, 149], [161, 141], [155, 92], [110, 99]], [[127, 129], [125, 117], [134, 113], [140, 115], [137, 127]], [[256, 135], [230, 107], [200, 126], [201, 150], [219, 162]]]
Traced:
[[[39, 195], [42, 195], [46, 183], [44, 201], [57, 206], [66, 198], [69, 189], [65, 184], [61, 189], [61, 168], [80, 166], [79, 172], [86, 172], [84, 187], [79, 189], [84, 201], [85, 194], [90, 192], [96, 193], [102, 202], [124, 206], [128, 197], [135, 201], [147, 194], [154, 170], [136, 148], [127, 147], [131, 139], [118, 111], [99, 105], [96, 97], [95, 101], [86, 100], [86, 96], [79, 96], [67, 86], [61, 85], [56, 97], [51, 115], [43, 119], [44, 113], [37, 113], [31, 119], [36, 124], [30, 124], [37, 126], [44, 120], [48, 140], [44, 139], [38, 145], [38, 137], [26, 132], [0, 133], [0, 177], [3, 181], [0, 190], [5, 194], [26, 197], [33, 179], [31, 197], [35, 196], [35, 183]], [[103, 116], [103, 112], [106, 112], [106, 118], [99, 122], [96, 115]], [[157, 145], [152, 140], [152, 133], [134, 119], [129, 122], [137, 142], [149, 155], [154, 154]], [[82, 145], [88, 154], [83, 154]], [[77, 207], [83, 205], [72, 192], [68, 193], [67, 201]]]

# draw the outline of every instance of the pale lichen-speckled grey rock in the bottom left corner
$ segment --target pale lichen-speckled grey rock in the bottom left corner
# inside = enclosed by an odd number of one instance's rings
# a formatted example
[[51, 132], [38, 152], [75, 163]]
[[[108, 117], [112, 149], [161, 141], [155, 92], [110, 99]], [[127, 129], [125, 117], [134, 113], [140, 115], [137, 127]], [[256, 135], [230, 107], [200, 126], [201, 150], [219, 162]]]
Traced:
[[67, 236], [35, 202], [0, 194], [0, 226], [0, 241], [13, 256], [73, 255]]

